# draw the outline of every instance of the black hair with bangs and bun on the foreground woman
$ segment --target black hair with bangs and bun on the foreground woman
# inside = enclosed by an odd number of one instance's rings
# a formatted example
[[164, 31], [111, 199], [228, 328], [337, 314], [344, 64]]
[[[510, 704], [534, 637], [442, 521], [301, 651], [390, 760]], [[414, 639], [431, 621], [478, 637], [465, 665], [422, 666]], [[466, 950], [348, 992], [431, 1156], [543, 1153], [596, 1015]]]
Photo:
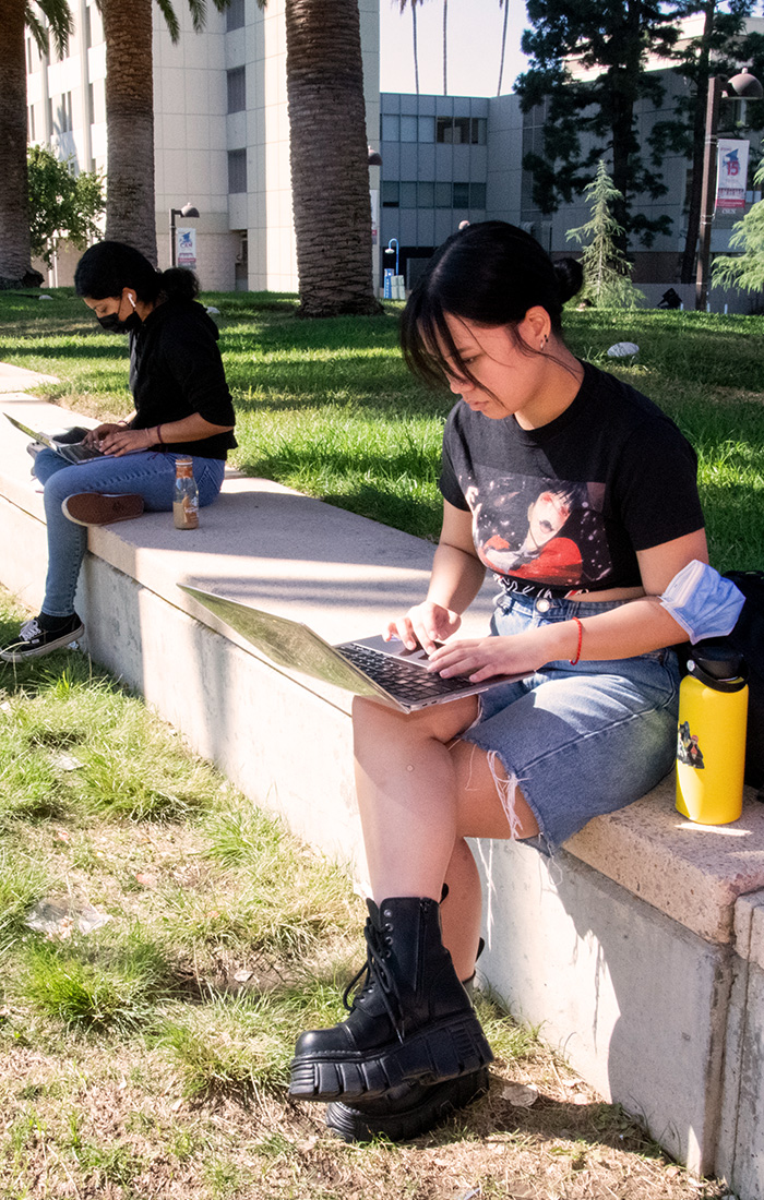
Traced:
[[506, 325], [526, 353], [517, 326], [529, 308], [545, 308], [562, 334], [562, 306], [580, 290], [584, 272], [574, 258], [553, 263], [524, 229], [483, 221], [452, 234], [436, 250], [404, 310], [401, 348], [407, 366], [428, 384], [442, 384], [446, 365], [474, 382], [461, 361], [446, 316], [478, 325]]

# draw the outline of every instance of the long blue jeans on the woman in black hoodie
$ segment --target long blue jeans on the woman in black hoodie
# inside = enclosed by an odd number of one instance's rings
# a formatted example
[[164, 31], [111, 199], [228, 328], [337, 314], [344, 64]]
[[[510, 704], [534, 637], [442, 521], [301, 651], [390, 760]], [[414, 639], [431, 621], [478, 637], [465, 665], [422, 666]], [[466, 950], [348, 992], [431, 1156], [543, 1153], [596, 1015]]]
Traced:
[[[77, 578], [88, 548], [88, 529], [64, 515], [64, 500], [78, 492], [131, 493], [143, 497], [149, 512], [171, 512], [175, 457], [149, 450], [71, 464], [53, 450], [40, 451], [35, 475], [44, 485], [48, 576], [42, 611], [48, 617], [68, 617], [74, 611]], [[193, 458], [199, 506], [211, 504], [219, 494], [225, 469], [222, 458]]]

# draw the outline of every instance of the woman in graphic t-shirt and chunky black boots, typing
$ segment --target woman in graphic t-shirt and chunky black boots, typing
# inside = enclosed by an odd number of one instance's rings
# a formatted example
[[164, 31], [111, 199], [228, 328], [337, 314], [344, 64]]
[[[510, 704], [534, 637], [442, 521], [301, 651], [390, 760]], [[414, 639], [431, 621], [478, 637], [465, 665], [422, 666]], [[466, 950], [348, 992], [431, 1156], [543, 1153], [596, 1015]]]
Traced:
[[[708, 562], [697, 461], [650, 400], [565, 344], [580, 282], [523, 230], [472, 224], [404, 313], [408, 366], [459, 400], [429, 593], [388, 634], [418, 641], [443, 676], [531, 674], [411, 715], [354, 702], [368, 964], [348, 1018], [299, 1038], [291, 1086], [332, 1102], [348, 1139], [414, 1136], [485, 1090], [491, 1054], [462, 986], [481, 929], [465, 839], [551, 854], [674, 760], [670, 647], [687, 635], [658, 598]], [[490, 635], [454, 638], [487, 568]]]

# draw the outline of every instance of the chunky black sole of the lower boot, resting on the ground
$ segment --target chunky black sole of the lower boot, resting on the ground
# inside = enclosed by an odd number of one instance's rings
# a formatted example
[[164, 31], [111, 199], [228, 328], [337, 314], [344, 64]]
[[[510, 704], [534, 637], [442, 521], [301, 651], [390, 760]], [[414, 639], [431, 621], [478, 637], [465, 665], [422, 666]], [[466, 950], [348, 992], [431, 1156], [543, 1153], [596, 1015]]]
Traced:
[[380, 1136], [390, 1141], [410, 1141], [428, 1133], [449, 1114], [485, 1096], [488, 1087], [488, 1070], [481, 1067], [468, 1075], [429, 1087], [412, 1084], [407, 1094], [398, 1100], [390, 1099], [387, 1111], [383, 1111], [383, 1099], [376, 1103], [378, 1111], [353, 1109], [335, 1100], [327, 1109], [327, 1126], [344, 1141], [370, 1141]]

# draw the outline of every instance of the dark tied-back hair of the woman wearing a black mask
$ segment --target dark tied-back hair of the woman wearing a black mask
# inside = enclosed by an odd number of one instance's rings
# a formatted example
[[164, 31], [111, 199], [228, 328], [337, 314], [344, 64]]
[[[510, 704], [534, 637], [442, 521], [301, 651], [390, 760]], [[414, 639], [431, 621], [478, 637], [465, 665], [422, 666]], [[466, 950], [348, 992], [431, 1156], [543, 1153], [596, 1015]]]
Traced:
[[148, 258], [123, 241], [97, 241], [82, 256], [74, 271], [78, 296], [106, 300], [121, 296], [123, 288], [133, 288], [138, 300], [154, 304], [165, 300], [195, 300], [199, 281], [184, 266], [157, 271]]

